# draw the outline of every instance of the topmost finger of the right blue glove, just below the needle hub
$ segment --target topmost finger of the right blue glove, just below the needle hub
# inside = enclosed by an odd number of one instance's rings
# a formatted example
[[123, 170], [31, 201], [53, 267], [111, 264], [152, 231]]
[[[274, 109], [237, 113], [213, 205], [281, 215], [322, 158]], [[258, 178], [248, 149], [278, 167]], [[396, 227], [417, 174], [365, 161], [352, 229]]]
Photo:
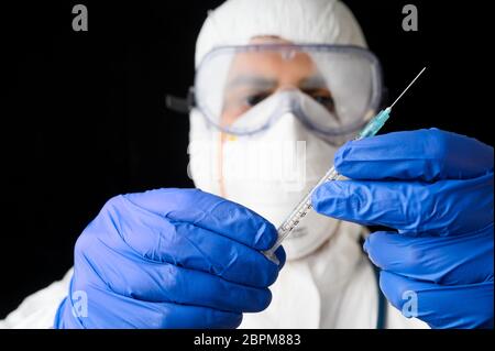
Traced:
[[438, 129], [395, 132], [351, 141], [334, 156], [337, 171], [352, 179], [475, 178], [493, 173], [493, 147]]

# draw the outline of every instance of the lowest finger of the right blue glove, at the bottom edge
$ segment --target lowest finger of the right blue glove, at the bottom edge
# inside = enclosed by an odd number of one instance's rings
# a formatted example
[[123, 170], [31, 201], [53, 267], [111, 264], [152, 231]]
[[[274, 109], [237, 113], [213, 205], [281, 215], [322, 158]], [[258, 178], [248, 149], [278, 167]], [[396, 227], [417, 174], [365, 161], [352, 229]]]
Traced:
[[431, 328], [493, 328], [493, 282], [442, 286], [382, 271], [380, 287], [404, 316]]

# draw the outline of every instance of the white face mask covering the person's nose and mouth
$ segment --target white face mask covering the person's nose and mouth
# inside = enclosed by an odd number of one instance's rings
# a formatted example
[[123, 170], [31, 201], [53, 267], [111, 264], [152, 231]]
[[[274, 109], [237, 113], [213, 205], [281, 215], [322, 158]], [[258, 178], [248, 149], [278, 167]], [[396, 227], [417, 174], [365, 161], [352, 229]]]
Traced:
[[[239, 123], [264, 113], [277, 99], [275, 95], [258, 103]], [[221, 133], [209, 128], [199, 111], [191, 112], [190, 122], [190, 172], [196, 186], [256, 211], [275, 227], [318, 183], [336, 153], [333, 146], [308, 131], [290, 111], [283, 112], [265, 131], [224, 136], [223, 143]], [[314, 252], [337, 226], [337, 220], [311, 211], [284, 241], [287, 259]]]

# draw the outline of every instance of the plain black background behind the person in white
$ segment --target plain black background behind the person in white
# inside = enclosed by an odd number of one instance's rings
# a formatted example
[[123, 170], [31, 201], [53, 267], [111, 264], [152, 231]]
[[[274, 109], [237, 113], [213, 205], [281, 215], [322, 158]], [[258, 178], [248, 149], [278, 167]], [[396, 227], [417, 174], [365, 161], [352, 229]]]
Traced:
[[[387, 131], [438, 127], [492, 144], [492, 118], [482, 108], [493, 90], [487, 9], [345, 2], [382, 62], [391, 97], [428, 66]], [[88, 7], [88, 32], [72, 30], [76, 3]], [[193, 186], [188, 118], [167, 111], [164, 96], [184, 96], [193, 83], [196, 35], [219, 3], [2, 4], [0, 317], [63, 276], [78, 234], [109, 197]], [[418, 7], [419, 32], [402, 30], [406, 3]]]

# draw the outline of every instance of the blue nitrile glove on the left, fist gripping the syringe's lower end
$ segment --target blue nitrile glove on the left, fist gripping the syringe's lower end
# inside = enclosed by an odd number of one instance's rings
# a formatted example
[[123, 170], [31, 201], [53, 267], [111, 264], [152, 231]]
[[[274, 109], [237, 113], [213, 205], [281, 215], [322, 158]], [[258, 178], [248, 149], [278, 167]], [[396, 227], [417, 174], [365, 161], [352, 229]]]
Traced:
[[235, 328], [271, 301], [279, 267], [260, 251], [276, 238], [258, 215], [199, 189], [117, 196], [77, 240], [54, 326]]

